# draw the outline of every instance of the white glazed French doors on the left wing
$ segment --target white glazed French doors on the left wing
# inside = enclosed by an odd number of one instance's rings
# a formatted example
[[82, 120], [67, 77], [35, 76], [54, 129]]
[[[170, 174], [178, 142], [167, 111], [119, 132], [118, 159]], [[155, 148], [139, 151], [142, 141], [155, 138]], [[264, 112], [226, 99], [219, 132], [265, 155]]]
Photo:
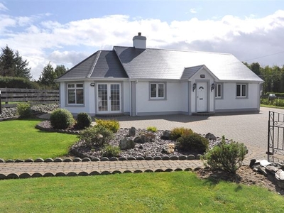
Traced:
[[121, 85], [104, 83], [97, 84], [97, 112], [120, 113], [121, 112]]

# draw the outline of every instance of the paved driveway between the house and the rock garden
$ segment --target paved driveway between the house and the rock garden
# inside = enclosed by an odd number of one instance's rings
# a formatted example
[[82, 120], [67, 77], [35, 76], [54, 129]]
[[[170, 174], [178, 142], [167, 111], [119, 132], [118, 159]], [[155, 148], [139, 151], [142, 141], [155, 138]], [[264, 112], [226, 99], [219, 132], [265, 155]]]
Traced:
[[[249, 148], [246, 159], [267, 159], [268, 112], [283, 109], [261, 107], [259, 114], [217, 114], [214, 116], [123, 116], [117, 118], [122, 128], [134, 126], [146, 129], [155, 126], [160, 130], [171, 130], [175, 127], [190, 128], [197, 133], [213, 133], [215, 136], [233, 139], [244, 143]], [[274, 159], [273, 159], [274, 158]], [[268, 160], [283, 161], [284, 155], [273, 155]]]

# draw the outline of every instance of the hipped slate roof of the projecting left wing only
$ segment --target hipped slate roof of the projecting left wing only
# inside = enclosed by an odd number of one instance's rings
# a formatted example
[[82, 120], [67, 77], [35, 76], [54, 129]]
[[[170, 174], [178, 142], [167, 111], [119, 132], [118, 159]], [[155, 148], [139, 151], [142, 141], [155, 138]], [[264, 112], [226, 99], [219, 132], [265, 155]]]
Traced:
[[99, 50], [72, 67], [58, 80], [76, 80], [85, 78], [128, 78], [119, 58], [112, 50]]

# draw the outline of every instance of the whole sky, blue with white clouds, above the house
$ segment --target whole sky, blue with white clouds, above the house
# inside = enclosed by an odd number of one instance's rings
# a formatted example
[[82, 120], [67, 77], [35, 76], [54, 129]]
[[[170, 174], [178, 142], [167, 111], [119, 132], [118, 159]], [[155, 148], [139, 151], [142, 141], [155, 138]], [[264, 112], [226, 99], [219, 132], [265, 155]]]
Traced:
[[284, 1], [0, 1], [0, 46], [18, 50], [38, 79], [50, 62], [71, 68], [99, 49], [148, 48], [232, 53], [284, 65]]

